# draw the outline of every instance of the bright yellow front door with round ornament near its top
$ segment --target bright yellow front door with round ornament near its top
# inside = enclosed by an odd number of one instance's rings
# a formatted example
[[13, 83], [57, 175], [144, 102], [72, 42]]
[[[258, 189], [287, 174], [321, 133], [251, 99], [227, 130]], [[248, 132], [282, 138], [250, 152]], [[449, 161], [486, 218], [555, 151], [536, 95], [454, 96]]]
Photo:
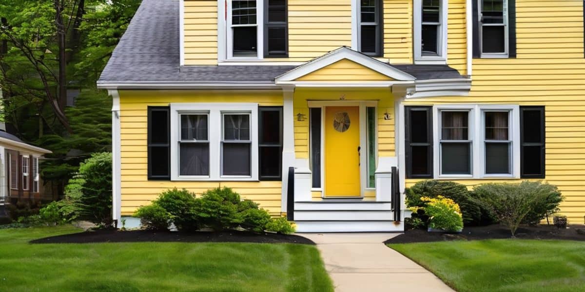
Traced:
[[325, 196], [360, 196], [360, 108], [325, 107]]

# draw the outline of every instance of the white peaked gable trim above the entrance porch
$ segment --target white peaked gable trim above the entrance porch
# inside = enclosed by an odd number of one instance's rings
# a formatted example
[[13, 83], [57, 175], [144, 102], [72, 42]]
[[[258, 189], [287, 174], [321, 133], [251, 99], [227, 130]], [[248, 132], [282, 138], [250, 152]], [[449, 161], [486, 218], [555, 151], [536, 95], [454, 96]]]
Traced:
[[376, 58], [358, 53], [357, 51], [354, 51], [348, 47], [340, 47], [297, 68], [294, 68], [291, 71], [284, 73], [283, 75], [278, 76], [275, 79], [276, 84], [282, 84], [286, 81], [294, 81], [297, 78], [303, 77], [304, 75], [327, 67], [328, 65], [343, 59], [356, 62], [357, 64], [363, 65], [364, 67], [372, 69], [397, 81], [414, 81], [416, 79], [412, 75], [392, 67], [390, 64], [376, 60]]

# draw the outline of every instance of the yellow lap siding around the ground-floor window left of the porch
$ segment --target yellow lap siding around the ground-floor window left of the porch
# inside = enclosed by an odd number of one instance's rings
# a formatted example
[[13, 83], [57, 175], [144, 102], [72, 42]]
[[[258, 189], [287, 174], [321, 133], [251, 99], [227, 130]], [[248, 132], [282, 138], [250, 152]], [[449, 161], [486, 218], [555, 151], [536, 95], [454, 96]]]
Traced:
[[167, 106], [174, 102], [255, 102], [261, 106], [282, 106], [280, 91], [121, 91], [121, 187], [122, 214], [132, 214], [137, 207], [167, 189], [185, 188], [197, 194], [214, 187], [229, 186], [260, 204], [272, 215], [281, 211], [280, 182], [171, 182], [147, 180], [147, 106]]

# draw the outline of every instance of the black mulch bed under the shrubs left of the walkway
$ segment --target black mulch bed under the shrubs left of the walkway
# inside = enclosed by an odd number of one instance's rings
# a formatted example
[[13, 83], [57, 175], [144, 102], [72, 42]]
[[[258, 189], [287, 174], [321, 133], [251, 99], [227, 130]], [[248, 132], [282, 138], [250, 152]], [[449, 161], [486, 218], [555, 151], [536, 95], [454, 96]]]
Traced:
[[298, 235], [255, 234], [245, 231], [224, 232], [156, 232], [146, 230], [98, 230], [46, 237], [32, 244], [92, 244], [98, 242], [253, 242], [261, 244], [309, 244], [315, 242]]

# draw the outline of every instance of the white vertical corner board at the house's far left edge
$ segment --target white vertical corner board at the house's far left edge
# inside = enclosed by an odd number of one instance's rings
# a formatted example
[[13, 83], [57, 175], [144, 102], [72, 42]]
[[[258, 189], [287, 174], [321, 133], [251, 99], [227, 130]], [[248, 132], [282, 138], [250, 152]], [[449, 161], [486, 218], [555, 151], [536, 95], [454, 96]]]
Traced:
[[112, 218], [120, 220], [121, 211], [121, 138], [120, 138], [120, 95], [118, 90], [108, 91], [112, 96]]

